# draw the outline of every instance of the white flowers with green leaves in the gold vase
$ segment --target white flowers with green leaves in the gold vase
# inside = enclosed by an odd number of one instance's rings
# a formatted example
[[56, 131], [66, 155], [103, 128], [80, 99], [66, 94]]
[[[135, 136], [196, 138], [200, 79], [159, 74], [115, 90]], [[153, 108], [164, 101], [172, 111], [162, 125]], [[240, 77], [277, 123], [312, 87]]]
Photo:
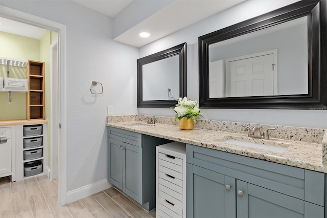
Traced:
[[175, 122], [177, 122], [177, 119], [180, 120], [183, 117], [186, 117], [186, 119], [192, 119], [195, 123], [196, 116], [202, 117], [197, 101], [191, 101], [191, 99], [186, 97], [179, 98], [177, 101], [178, 103], [173, 108], [173, 110], [176, 112]]

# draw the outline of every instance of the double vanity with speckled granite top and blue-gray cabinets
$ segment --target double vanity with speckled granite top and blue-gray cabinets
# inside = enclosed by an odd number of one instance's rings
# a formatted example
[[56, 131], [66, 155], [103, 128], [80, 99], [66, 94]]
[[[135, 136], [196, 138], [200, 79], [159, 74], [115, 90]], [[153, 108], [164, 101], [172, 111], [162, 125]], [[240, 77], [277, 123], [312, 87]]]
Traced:
[[[145, 207], [145, 198], [149, 194], [147, 189], [152, 187], [150, 181], [155, 185], [155, 175], [148, 173], [154, 169], [144, 167], [155, 167], [155, 146], [177, 141], [186, 144], [183, 216], [186, 212], [187, 217], [324, 217], [327, 191], [324, 129], [198, 120], [193, 130], [180, 130], [171, 117], [152, 116], [155, 124], [146, 123], [146, 117], [149, 116], [109, 116], [107, 122], [108, 180], [145, 209], [153, 208], [149, 206], [153, 203]], [[270, 139], [257, 139], [248, 137], [243, 125], [276, 129], [270, 130]], [[123, 143], [113, 140], [112, 131], [123, 131], [120, 137], [126, 140], [122, 139]], [[134, 139], [128, 141], [132, 135]], [[132, 164], [131, 155], [123, 158], [126, 166], [115, 165], [111, 157], [119, 156], [111, 155], [115, 152], [111, 147], [117, 152], [126, 149], [125, 155], [136, 154], [136, 149], [131, 148], [136, 141], [137, 148], [142, 150], [139, 155], [142, 158], [135, 162], [138, 167]], [[129, 170], [127, 164], [134, 170]], [[121, 173], [122, 168], [125, 168], [122, 174], [115, 173]], [[122, 187], [113, 183], [111, 175], [129, 180], [133, 175], [137, 180], [126, 181], [124, 190], [124, 184]], [[128, 183], [140, 191], [137, 198], [133, 196], [135, 190], [131, 193], [126, 189]], [[137, 200], [141, 195], [143, 199]]]

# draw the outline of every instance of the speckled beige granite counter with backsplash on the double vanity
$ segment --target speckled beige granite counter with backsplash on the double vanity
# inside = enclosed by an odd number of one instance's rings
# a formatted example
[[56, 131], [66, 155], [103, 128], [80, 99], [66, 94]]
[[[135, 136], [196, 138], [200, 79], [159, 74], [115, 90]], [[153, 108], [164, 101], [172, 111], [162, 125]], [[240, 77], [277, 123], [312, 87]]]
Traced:
[[[323, 165], [323, 158], [325, 158], [323, 154], [327, 154], [327, 152], [323, 152], [323, 148], [327, 147], [327, 133], [324, 129], [198, 120], [193, 130], [180, 130], [174, 123], [174, 118], [168, 117], [155, 117], [155, 125], [148, 125], [144, 122], [144, 125], [140, 127], [135, 126], [135, 124], [142, 123], [140, 120], [143, 121], [144, 117], [151, 116], [112, 116], [108, 117], [107, 126], [275, 163], [327, 172], [327, 165]], [[201, 128], [204, 125], [203, 123], [208, 124], [206, 128]], [[211, 125], [209, 125], [210, 123]], [[262, 129], [264, 127], [275, 127], [276, 130], [271, 131], [270, 140], [251, 139], [247, 137], [246, 128], [242, 127], [242, 125], [250, 125], [252, 127], [255, 125]], [[215, 128], [217, 130], [214, 130]], [[225, 139], [233, 137], [242, 141], [276, 144], [279, 147], [286, 147], [287, 149], [283, 152], [276, 152], [222, 142]]]

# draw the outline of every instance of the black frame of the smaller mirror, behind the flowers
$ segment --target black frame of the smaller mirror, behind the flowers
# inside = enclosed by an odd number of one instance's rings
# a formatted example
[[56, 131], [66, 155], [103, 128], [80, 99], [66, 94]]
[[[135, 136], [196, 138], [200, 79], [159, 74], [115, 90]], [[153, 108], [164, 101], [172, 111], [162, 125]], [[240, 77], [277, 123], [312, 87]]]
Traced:
[[186, 96], [186, 42], [184, 42], [173, 48], [137, 59], [137, 107], [165, 108], [176, 105], [176, 100], [143, 100], [143, 65], [175, 55], [179, 55], [179, 97]]

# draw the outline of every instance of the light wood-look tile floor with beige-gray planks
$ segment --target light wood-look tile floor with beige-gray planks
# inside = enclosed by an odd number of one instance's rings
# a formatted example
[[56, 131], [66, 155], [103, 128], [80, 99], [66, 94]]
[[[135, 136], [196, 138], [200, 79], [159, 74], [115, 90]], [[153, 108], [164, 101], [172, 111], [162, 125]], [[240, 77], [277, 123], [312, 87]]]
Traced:
[[11, 182], [0, 178], [0, 218], [155, 217], [114, 188], [64, 206], [57, 204], [57, 180], [47, 176]]

